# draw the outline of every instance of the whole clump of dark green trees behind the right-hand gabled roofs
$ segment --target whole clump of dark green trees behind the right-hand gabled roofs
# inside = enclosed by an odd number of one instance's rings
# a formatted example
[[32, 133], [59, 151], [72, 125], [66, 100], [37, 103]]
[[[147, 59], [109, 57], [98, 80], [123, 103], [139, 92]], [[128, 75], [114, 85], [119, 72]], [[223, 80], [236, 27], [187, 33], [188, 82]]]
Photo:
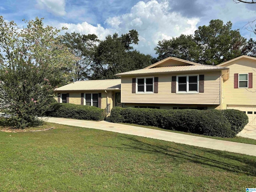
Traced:
[[199, 26], [194, 36], [181, 35], [158, 42], [155, 48], [158, 60], [174, 56], [201, 64], [217, 65], [226, 60], [248, 54], [248, 42], [232, 23], [211, 20], [208, 26]]

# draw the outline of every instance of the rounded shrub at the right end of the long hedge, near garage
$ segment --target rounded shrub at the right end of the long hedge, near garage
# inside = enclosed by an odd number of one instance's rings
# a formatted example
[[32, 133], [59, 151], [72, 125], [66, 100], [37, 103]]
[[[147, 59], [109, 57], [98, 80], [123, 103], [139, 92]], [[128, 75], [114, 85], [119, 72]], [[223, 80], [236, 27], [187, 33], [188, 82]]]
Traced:
[[230, 123], [231, 130], [234, 131], [236, 134], [242, 131], [244, 126], [248, 124], [248, 116], [240, 110], [225, 109], [222, 110], [222, 114]]

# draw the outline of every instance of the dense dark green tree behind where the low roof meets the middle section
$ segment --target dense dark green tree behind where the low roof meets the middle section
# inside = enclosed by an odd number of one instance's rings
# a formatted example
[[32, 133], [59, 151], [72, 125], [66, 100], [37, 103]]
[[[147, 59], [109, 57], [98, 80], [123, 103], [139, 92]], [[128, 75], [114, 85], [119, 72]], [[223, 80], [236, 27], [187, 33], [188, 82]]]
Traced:
[[138, 32], [108, 35], [98, 44], [94, 52], [91, 79], [112, 79], [116, 73], [136, 70], [151, 64], [152, 57], [133, 50], [138, 44]]

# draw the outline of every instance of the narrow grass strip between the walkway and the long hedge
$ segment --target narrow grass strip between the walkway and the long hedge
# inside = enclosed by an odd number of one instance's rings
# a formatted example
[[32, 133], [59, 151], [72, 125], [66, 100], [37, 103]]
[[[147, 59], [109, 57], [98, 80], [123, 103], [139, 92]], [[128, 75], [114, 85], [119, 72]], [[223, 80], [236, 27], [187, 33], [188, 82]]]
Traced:
[[120, 123], [120, 124], [132, 125], [132, 126], [137, 126], [137, 127], [144, 127], [144, 128], [150, 128], [150, 129], [156, 129], [156, 130], [162, 130], [162, 131], [168, 131], [168, 132], [174, 132], [174, 133], [180, 133], [180, 134], [186, 134], [186, 135], [194, 135], [194, 136], [198, 136], [198, 137], [206, 137], [206, 138], [212, 138], [212, 139], [219, 139], [219, 140], [225, 140], [225, 141], [232, 141], [232, 142], [256, 145], [255, 139], [244, 138], [244, 137], [240, 137], [240, 136], [236, 136], [234, 138], [222, 138], [222, 137], [213, 137], [213, 136], [200, 135], [200, 134], [188, 133], [188, 132], [182, 132], [182, 131], [167, 130], [167, 129], [162, 129], [162, 128], [158, 128], [158, 127], [154, 127], [154, 126], [145, 126], [145, 125], [130, 124], [130, 123]]

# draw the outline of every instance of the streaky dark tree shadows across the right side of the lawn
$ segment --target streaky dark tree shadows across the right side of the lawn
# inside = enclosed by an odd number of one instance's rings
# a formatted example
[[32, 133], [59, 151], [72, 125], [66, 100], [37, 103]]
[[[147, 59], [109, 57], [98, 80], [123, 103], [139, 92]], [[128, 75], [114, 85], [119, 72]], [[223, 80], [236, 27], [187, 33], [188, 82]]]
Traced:
[[[158, 142], [143, 142], [129, 136], [120, 136], [129, 142], [121, 142], [124, 147], [114, 147], [118, 149], [139, 150], [143, 153], [157, 154], [170, 158], [172, 164], [182, 164], [193, 162], [196, 164], [217, 168], [220, 170], [256, 176], [256, 157], [230, 152], [199, 148], [189, 145], [172, 143], [170, 145], [157, 146]], [[128, 144], [126, 144], [128, 143]], [[113, 146], [106, 146], [111, 147]]]

